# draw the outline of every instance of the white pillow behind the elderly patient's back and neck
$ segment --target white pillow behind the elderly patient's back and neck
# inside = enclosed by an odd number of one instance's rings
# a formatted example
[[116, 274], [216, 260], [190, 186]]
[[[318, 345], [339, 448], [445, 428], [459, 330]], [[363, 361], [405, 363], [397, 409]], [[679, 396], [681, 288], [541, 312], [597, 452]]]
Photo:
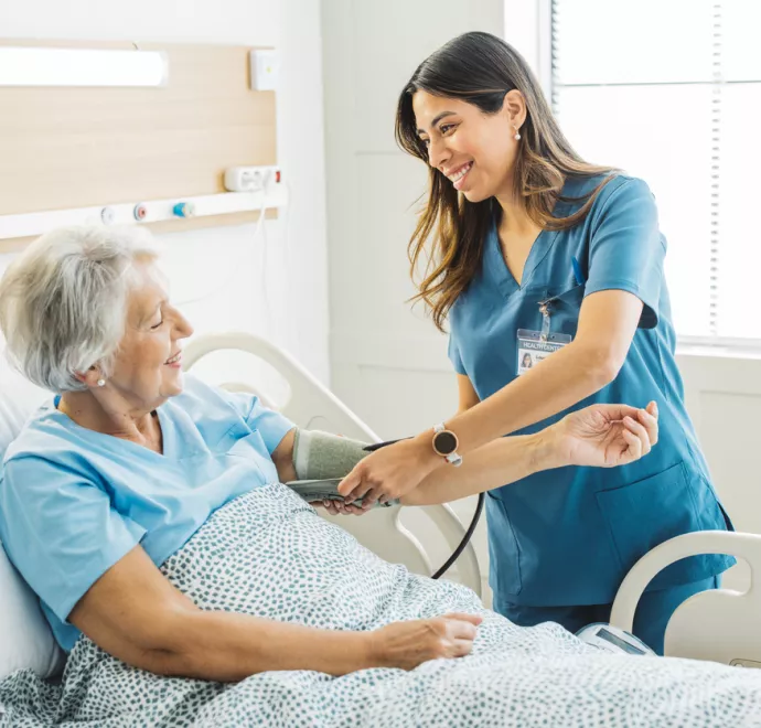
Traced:
[[[12, 371], [0, 352], [0, 459], [28, 417], [52, 395]], [[0, 679], [31, 668], [56, 675], [64, 663], [40, 600], [8, 560], [0, 544]]]

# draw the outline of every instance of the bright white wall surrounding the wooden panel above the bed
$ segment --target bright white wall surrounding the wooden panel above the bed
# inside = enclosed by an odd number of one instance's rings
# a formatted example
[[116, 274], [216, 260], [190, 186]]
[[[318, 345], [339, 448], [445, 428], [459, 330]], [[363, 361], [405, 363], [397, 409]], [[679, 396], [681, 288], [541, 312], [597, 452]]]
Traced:
[[[330, 373], [320, 0], [3, 2], [0, 38], [279, 49], [282, 66], [277, 92], [278, 163], [289, 185], [290, 207], [279, 220], [266, 223], [266, 250], [261, 238], [256, 244], [253, 239], [255, 225], [165, 235], [167, 268], [175, 300], [211, 293], [184, 307], [196, 331], [242, 329], [269, 335], [326, 382]], [[304, 108], [309, 109], [308, 118], [303, 116]], [[268, 306], [261, 290], [265, 278]]]

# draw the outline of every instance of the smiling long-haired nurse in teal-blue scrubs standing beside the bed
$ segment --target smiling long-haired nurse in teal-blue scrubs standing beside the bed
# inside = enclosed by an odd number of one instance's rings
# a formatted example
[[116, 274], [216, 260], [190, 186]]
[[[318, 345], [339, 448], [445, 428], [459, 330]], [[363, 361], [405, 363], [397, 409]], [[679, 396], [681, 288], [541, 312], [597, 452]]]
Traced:
[[[399, 97], [396, 136], [429, 165], [409, 250], [412, 269], [427, 264], [417, 298], [437, 328], [449, 323], [459, 411], [374, 452], [340, 490], [399, 497], [494, 438], [591, 403], [654, 399], [661, 435], [646, 458], [560, 468], [486, 494], [496, 611], [571, 631], [608, 621], [641, 556], [678, 534], [731, 528], [684, 406], [653, 195], [581, 159], [526, 62], [487, 33], [420, 64]], [[674, 609], [717, 587], [732, 563], [701, 556], [662, 571], [634, 632], [662, 652]]]

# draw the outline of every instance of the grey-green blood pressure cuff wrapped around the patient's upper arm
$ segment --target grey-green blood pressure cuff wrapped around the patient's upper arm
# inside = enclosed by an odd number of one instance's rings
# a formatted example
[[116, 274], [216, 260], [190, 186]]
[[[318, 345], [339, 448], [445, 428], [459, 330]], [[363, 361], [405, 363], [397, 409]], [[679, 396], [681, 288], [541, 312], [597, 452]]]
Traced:
[[[293, 469], [297, 481], [286, 483], [304, 501], [343, 501], [339, 483], [360, 460], [367, 457], [366, 442], [339, 437], [320, 430], [296, 430]], [[398, 501], [376, 503], [374, 507], [388, 507]], [[362, 499], [354, 501], [362, 505]]]

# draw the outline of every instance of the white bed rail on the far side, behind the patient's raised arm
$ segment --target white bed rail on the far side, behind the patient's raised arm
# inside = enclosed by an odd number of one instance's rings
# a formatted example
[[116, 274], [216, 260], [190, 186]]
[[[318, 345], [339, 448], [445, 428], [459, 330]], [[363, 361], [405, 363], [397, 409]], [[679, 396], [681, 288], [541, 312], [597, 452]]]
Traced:
[[[285, 404], [277, 408], [299, 427], [308, 429], [318, 422], [317, 429], [330, 427], [333, 432], [366, 442], [379, 442], [380, 438], [352, 413], [335, 395], [315, 379], [292, 356], [270, 342], [248, 333], [207, 334], [192, 340], [183, 351], [185, 371], [212, 352], [243, 351], [266, 362], [280, 374], [289, 386]], [[226, 389], [250, 392], [264, 404], [272, 407], [274, 397], [251, 383], [222, 383]], [[422, 540], [406, 528], [400, 515], [404, 506], [376, 508], [365, 515], [323, 517], [349, 531], [364, 546], [392, 564], [404, 564], [410, 571], [430, 576], [440, 564], [431, 564], [429, 549]], [[425, 506], [426, 515], [443, 536], [449, 552], [453, 552], [465, 534], [465, 527], [449, 505]], [[473, 544], [468, 544], [447, 578], [460, 581], [481, 596], [481, 569]]]

